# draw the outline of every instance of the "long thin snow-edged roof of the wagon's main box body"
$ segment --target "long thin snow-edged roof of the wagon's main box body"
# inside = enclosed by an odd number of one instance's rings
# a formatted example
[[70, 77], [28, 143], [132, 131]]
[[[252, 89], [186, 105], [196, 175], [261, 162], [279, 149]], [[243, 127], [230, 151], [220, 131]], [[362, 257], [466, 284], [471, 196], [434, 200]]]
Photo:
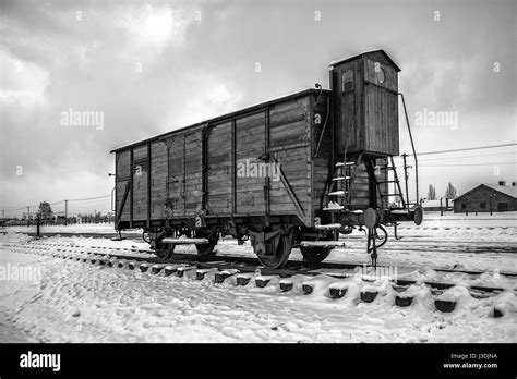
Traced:
[[241, 114], [245, 114], [245, 113], [250, 113], [250, 112], [260, 110], [261, 108], [273, 106], [277, 102], [286, 101], [286, 100], [289, 100], [289, 99], [294, 99], [297, 97], [306, 96], [309, 94], [318, 94], [320, 91], [324, 93], [324, 94], [330, 94], [330, 90], [328, 90], [328, 89], [317, 89], [317, 88], [303, 89], [303, 90], [300, 90], [298, 93], [293, 93], [293, 94], [290, 94], [290, 95], [285, 95], [285, 96], [274, 98], [274, 99], [270, 99], [270, 100], [267, 100], [267, 101], [264, 101], [264, 102], [258, 102], [258, 103], [255, 103], [253, 106], [249, 106], [247, 108], [242, 108], [242, 109], [239, 109], [237, 111], [226, 113], [226, 114], [213, 118], [213, 119], [204, 120], [204, 121], [197, 122], [195, 124], [191, 124], [189, 126], [176, 129], [173, 131], [169, 131], [167, 133], [161, 133], [161, 134], [155, 135], [155, 136], [146, 138], [146, 139], [141, 139], [141, 140], [128, 144], [128, 145], [123, 145], [123, 146], [117, 147], [116, 149], [112, 149], [110, 152], [117, 152], [117, 151], [120, 151], [120, 150], [124, 150], [124, 149], [128, 149], [128, 148], [133, 147], [133, 146], [137, 146], [137, 145], [141, 145], [141, 144], [145, 144], [145, 143], [149, 143], [149, 142], [153, 142], [153, 140], [160, 139], [161, 137], [165, 137], [165, 136], [170, 135], [170, 134], [175, 134], [175, 133], [178, 133], [178, 132], [183, 132], [183, 131], [194, 129], [196, 126], [209, 124], [209, 123], [217, 123], [219, 121], [224, 121], [225, 119], [230, 119], [230, 118], [233, 118], [233, 117], [238, 117], [238, 115], [241, 115]]

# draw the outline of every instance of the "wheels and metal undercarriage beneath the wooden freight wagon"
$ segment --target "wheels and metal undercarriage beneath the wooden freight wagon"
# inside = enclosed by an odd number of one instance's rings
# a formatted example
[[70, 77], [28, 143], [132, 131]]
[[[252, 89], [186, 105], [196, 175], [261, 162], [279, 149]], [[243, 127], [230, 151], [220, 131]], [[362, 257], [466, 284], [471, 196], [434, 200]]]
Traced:
[[[266, 268], [281, 268], [289, 260], [291, 250], [299, 248], [309, 264], [317, 264], [329, 256], [336, 247], [346, 246], [346, 236], [354, 230], [365, 234], [365, 252], [376, 266], [377, 250], [388, 241], [387, 228], [393, 228], [394, 237], [400, 221], [420, 224], [422, 210], [389, 211], [373, 208], [356, 211], [339, 211], [338, 222], [322, 224], [314, 220], [313, 227], [301, 222], [266, 223], [262, 217], [219, 219], [196, 218], [166, 220], [163, 227], [144, 228], [143, 239], [161, 259], [170, 259], [177, 245], [194, 245], [201, 257], [216, 254], [216, 245], [225, 236], [232, 236], [238, 245], [251, 244], [260, 264]], [[292, 221], [294, 217], [286, 217]], [[281, 219], [279, 219], [281, 221]]]

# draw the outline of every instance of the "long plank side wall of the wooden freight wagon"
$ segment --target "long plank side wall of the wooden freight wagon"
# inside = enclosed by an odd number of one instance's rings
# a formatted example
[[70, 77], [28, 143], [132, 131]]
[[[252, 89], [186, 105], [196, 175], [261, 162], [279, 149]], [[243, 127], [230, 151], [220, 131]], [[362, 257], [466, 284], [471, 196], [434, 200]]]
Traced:
[[[304, 90], [113, 150], [120, 156], [117, 205], [124, 180], [131, 183], [121, 212], [124, 227], [163, 225], [167, 198], [176, 199], [172, 221], [194, 217], [200, 205], [221, 218], [269, 212], [296, 217], [301, 205], [304, 223], [312, 223], [311, 107], [317, 94]], [[327, 150], [329, 145], [324, 146]], [[239, 159], [266, 152], [281, 164], [289, 188], [267, 178], [238, 178]], [[141, 163], [145, 183], [129, 174], [134, 163]]]

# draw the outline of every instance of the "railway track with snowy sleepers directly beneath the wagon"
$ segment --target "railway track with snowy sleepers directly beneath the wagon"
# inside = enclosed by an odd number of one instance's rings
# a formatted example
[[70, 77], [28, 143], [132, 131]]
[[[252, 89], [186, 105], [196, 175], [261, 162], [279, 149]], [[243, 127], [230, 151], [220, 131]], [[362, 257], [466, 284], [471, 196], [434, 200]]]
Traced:
[[[255, 258], [240, 256], [199, 257], [193, 254], [175, 254], [165, 261], [151, 255], [152, 250], [139, 248], [108, 247], [96, 245], [76, 245], [71, 243], [50, 243], [40, 240], [31, 240], [23, 243], [3, 243], [15, 253], [36, 254], [40, 256], [62, 258], [95, 266], [136, 270], [143, 273], [164, 277], [176, 276], [192, 280], [211, 280], [215, 284], [231, 283], [233, 285], [254, 285], [264, 288], [276, 285], [280, 292], [297, 291], [311, 294], [316, 289], [325, 290], [330, 298], [344, 297], [347, 290], [358, 278], [357, 264], [322, 262], [306, 265], [303, 261], [291, 260], [284, 269], [266, 269], [257, 267]], [[380, 267], [382, 269], [382, 267]], [[378, 268], [377, 268], [378, 269]], [[260, 270], [260, 272], [257, 272]], [[459, 272], [470, 276], [480, 276], [481, 271], [466, 271], [452, 269], [436, 269], [440, 272]], [[516, 278], [516, 273], [500, 273], [508, 278]], [[371, 303], [381, 294], [386, 294], [386, 288], [375, 286], [375, 276], [361, 274], [361, 282], [365, 291], [361, 290], [362, 302]], [[356, 280], [357, 282], [357, 280]], [[406, 279], [404, 276], [392, 278], [388, 281], [389, 291], [394, 291], [394, 302], [397, 306], [408, 306], [413, 297], [408, 294], [411, 288], [429, 288], [435, 297], [436, 309], [448, 313], [454, 310], [456, 302], [441, 299], [448, 289], [458, 283], [430, 280]], [[373, 285], [373, 289], [372, 289]], [[385, 285], [385, 284], [384, 284]], [[498, 295], [508, 289], [489, 285], [464, 285], [473, 298], [486, 298]], [[376, 290], [375, 290], [376, 289]], [[517, 289], [514, 288], [514, 293]], [[494, 308], [494, 317], [503, 313]]]

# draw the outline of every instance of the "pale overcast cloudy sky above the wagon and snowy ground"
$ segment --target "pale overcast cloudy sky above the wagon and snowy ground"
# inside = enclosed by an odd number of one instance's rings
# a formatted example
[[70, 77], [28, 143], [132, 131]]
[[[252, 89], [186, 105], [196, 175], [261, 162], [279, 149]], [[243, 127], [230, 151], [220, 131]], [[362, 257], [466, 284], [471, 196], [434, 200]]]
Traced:
[[[418, 151], [517, 142], [510, 0], [2, 0], [0, 13], [0, 209], [107, 195], [110, 149], [314, 83], [327, 88], [332, 60], [376, 48], [401, 69]], [[103, 112], [103, 127], [62, 125], [70, 109]], [[416, 124], [425, 110], [455, 112], [457, 123]], [[516, 164], [501, 164], [515, 151], [423, 156], [421, 192], [515, 181]], [[71, 208], [107, 211], [109, 198]]]

